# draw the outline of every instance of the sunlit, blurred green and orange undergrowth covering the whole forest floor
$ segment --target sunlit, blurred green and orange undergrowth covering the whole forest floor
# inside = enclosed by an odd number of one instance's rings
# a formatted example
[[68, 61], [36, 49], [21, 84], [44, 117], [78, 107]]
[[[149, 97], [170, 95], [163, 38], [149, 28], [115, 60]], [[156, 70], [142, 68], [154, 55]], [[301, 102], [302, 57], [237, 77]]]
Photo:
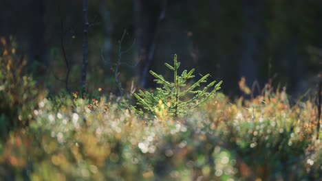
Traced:
[[157, 102], [158, 117], [149, 117], [125, 97], [24, 95], [36, 84], [23, 83], [28, 75], [13, 79], [19, 69], [9, 69], [9, 60], [3, 53], [0, 114], [14, 129], [0, 142], [1, 180], [322, 177], [314, 101], [290, 106], [285, 90], [266, 86], [250, 100], [217, 93], [188, 117], [169, 117]]

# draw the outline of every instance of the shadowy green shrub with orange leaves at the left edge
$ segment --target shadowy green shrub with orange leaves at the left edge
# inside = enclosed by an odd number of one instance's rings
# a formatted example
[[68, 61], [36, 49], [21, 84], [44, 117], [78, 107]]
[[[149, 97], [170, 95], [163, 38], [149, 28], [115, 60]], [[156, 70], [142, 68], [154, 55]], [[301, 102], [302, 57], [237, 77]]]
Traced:
[[29, 124], [31, 112], [45, 91], [39, 91], [32, 76], [24, 72], [27, 62], [17, 55], [12, 38], [0, 39], [0, 134], [3, 137], [13, 128]]

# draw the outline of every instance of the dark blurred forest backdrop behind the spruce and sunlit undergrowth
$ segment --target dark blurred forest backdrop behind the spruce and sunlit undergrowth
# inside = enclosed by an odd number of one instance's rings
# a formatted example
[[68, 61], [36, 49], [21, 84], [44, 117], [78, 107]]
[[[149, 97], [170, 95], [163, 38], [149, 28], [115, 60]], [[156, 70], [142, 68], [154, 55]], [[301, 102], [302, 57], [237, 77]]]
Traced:
[[[301, 94], [322, 70], [320, 0], [92, 0], [88, 5], [88, 91], [117, 93], [118, 60], [124, 88], [131, 80], [151, 87], [144, 70], [164, 74], [164, 62], [172, 62], [175, 53], [183, 69], [224, 80], [228, 95], [239, 94], [242, 76], [250, 87], [273, 78], [289, 93]], [[0, 26], [0, 36], [17, 46], [39, 83], [57, 92], [65, 88], [69, 71], [68, 88], [79, 89], [82, 1], [1, 0]]]

